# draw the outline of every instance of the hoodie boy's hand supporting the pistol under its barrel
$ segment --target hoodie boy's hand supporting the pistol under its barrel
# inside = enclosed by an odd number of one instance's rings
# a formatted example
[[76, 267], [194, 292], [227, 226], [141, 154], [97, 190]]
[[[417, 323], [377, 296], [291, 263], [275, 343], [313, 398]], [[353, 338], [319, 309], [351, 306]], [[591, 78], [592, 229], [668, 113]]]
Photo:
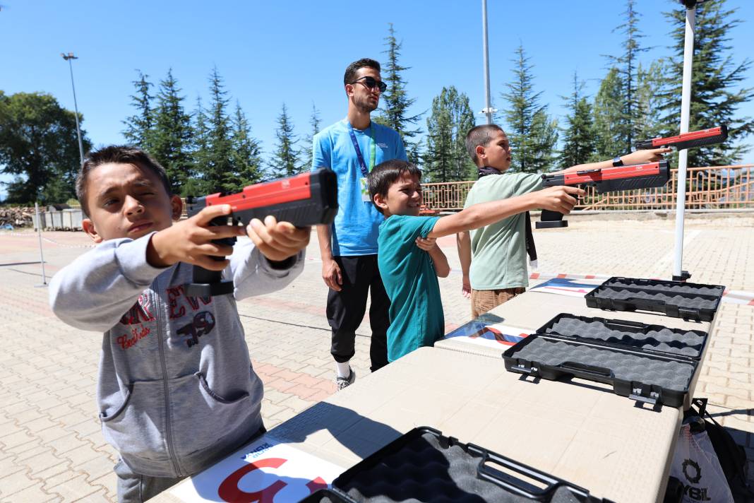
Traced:
[[254, 246], [269, 260], [281, 262], [296, 255], [309, 244], [311, 227], [296, 228], [290, 222], [277, 222], [274, 216], [265, 217], [262, 223], [252, 219], [246, 227]]

